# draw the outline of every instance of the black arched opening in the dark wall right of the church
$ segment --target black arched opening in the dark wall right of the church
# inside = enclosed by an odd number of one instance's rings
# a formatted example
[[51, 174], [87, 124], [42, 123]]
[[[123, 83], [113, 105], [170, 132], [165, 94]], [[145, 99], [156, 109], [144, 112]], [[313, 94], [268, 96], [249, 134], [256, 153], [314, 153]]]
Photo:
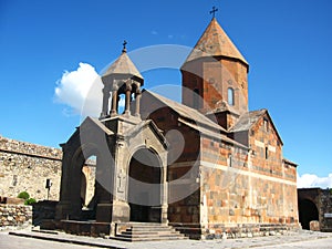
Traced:
[[309, 199], [299, 200], [299, 219], [303, 229], [310, 229], [310, 221], [319, 220], [319, 211], [314, 203]]

